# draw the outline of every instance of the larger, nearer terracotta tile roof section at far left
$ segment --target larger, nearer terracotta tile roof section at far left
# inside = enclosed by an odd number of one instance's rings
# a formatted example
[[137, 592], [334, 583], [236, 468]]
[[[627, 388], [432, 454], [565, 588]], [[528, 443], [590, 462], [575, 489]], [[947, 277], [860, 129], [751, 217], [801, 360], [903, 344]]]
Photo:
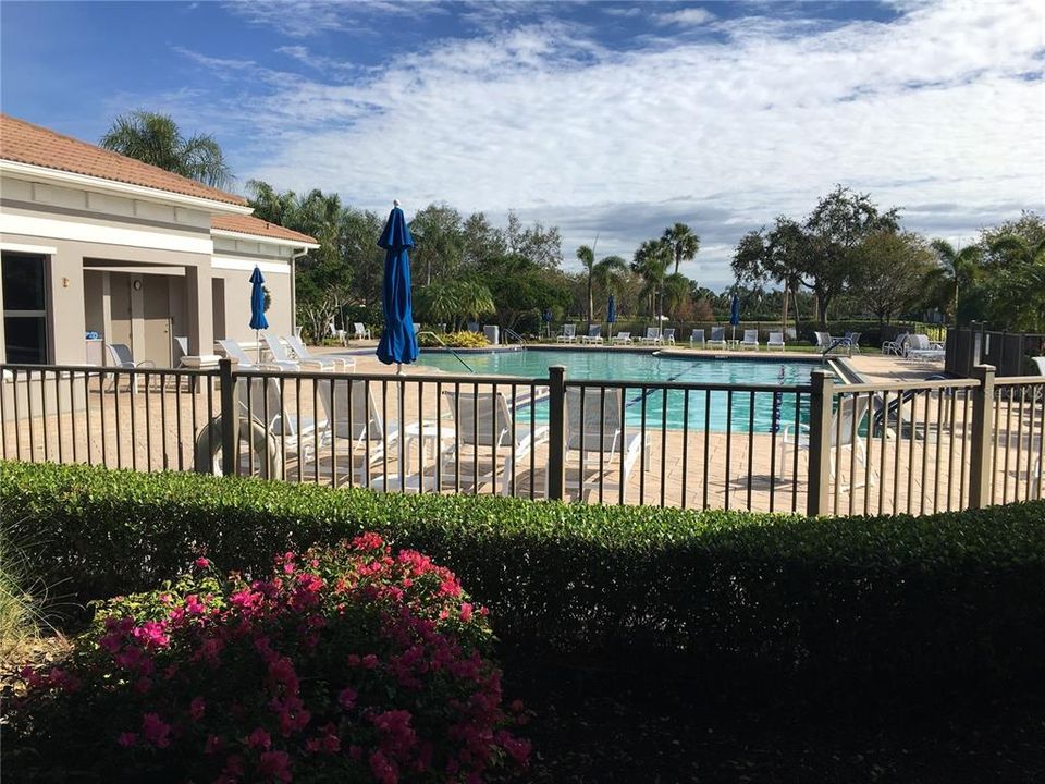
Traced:
[[0, 158], [211, 201], [246, 205], [246, 199], [242, 196], [219, 191], [8, 114], [0, 114]]

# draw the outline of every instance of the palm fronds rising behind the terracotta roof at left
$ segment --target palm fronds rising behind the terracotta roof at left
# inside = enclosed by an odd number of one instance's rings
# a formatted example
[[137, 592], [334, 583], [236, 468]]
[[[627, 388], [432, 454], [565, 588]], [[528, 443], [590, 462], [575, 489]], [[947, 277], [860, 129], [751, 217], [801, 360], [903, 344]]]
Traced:
[[233, 180], [213, 136], [196, 134], [186, 139], [167, 114], [147, 111], [122, 114], [113, 121], [100, 144], [113, 152], [213, 187], [224, 187]]

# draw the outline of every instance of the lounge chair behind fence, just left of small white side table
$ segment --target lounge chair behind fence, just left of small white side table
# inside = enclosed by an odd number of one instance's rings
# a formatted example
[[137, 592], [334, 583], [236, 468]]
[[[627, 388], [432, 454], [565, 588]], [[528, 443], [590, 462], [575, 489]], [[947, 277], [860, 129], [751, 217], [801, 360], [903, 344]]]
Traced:
[[[370, 467], [384, 462], [389, 462], [390, 466], [394, 465], [397, 457], [389, 458], [386, 455], [398, 444], [399, 427], [392, 420], [385, 427], [381, 419], [373, 400], [373, 385], [379, 382], [370, 384], [361, 379], [337, 379], [317, 383], [319, 402], [327, 418], [320, 437], [319, 457], [325, 457], [328, 446], [332, 446], [335, 453], [339, 448], [347, 446], [346, 458], [353, 473], [353, 482], [372, 490], [383, 490], [382, 477], [374, 476]], [[359, 466], [356, 466], [356, 454], [360, 451], [362, 460]], [[388, 485], [390, 490], [399, 489], [397, 478], [390, 476]]]

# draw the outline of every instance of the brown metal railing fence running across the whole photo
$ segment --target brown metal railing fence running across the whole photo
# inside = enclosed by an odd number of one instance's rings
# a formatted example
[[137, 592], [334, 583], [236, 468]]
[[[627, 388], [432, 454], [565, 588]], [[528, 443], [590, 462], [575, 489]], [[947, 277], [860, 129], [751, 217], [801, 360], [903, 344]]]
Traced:
[[0, 366], [0, 455], [810, 514], [1041, 498], [1045, 378], [764, 385]]

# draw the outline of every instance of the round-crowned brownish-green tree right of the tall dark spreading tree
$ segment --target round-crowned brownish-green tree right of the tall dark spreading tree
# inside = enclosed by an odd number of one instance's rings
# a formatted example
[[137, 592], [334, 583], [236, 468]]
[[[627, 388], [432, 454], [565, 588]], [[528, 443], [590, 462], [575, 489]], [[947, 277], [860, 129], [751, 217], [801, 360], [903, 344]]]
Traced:
[[878, 326], [924, 299], [925, 280], [935, 268], [933, 252], [918, 234], [880, 231], [856, 246], [852, 285], [878, 319]]

